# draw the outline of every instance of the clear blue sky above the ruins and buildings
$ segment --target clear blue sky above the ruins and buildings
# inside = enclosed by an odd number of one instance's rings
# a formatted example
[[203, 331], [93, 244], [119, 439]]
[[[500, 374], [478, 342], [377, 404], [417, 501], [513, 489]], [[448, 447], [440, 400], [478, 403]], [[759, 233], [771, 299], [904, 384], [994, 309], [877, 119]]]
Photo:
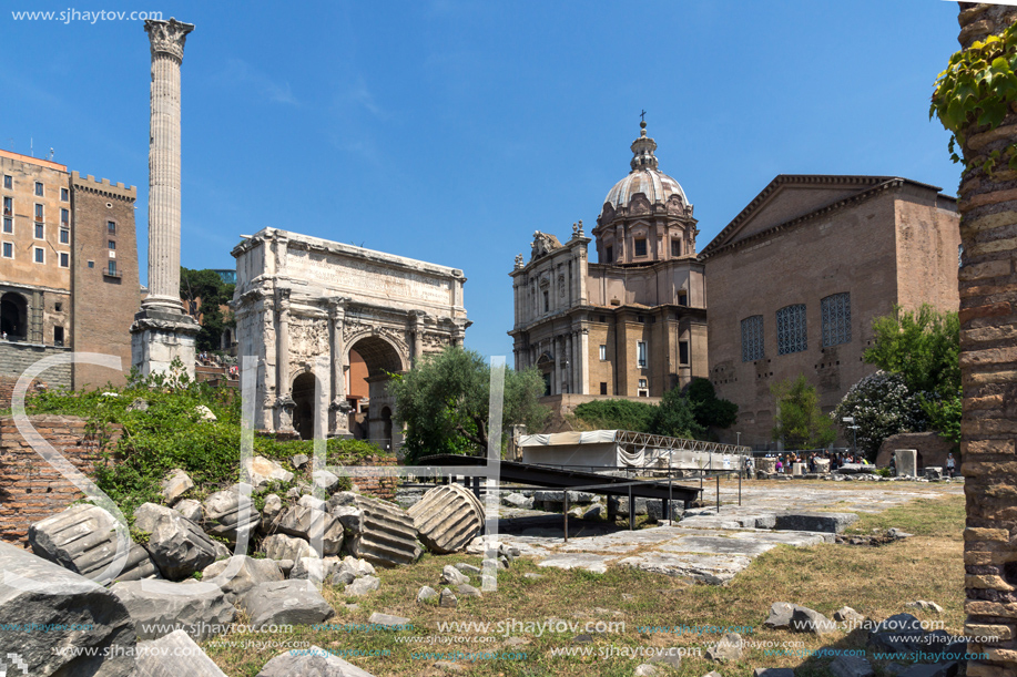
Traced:
[[[0, 147], [139, 188], [145, 275], [149, 41], [140, 21], [0, 14]], [[511, 363], [511, 280], [533, 230], [596, 223], [639, 112], [695, 205], [702, 249], [776, 174], [891, 174], [955, 193], [932, 83], [957, 4], [132, 2], [195, 23], [183, 62], [183, 254], [232, 268], [285, 228], [462, 268], [467, 347]]]

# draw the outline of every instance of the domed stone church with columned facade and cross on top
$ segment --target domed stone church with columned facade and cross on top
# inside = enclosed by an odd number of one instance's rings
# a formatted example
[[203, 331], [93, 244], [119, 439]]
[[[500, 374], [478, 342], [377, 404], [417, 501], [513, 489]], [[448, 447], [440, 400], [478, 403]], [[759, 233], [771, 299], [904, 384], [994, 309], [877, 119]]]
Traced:
[[645, 126], [591, 232], [598, 263], [582, 222], [565, 244], [535, 233], [529, 261], [516, 257], [516, 369], [536, 365], [547, 396], [654, 398], [706, 376], [696, 222], [682, 187], [658, 168]]

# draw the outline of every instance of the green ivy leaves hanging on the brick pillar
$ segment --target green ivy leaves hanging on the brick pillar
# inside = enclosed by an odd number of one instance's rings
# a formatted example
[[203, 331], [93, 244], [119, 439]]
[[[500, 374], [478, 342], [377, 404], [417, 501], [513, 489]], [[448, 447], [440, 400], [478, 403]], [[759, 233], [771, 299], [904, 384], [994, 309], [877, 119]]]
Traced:
[[[1017, 101], [1017, 25], [1003, 35], [989, 35], [969, 49], [950, 57], [949, 65], [936, 79], [929, 105], [929, 120], [935, 115], [943, 126], [953, 132], [950, 160], [959, 162], [955, 142], [964, 141], [963, 132], [970, 125], [998, 127], [1006, 117], [1010, 103]], [[1017, 170], [1017, 147], [1006, 148], [1007, 162]], [[984, 168], [991, 172], [999, 154], [996, 153]]]

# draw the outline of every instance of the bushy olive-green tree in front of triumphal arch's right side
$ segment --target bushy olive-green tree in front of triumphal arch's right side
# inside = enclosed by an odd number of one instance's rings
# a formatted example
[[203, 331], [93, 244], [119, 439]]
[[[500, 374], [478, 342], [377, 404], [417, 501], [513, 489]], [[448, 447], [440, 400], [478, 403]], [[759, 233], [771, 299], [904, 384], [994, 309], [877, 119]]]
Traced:
[[[490, 367], [479, 353], [447, 347], [426, 356], [411, 370], [389, 381], [396, 422], [405, 423], [407, 460], [438, 453], [487, 451]], [[506, 369], [502, 430], [522, 423], [539, 430], [550, 410], [538, 402], [543, 378], [536, 368]]]

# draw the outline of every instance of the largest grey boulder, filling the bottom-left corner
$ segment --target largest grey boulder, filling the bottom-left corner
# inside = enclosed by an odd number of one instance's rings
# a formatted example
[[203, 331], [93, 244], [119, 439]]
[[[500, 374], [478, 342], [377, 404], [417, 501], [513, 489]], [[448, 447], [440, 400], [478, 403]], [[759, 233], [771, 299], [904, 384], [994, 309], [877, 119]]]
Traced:
[[[20, 655], [28, 675], [134, 675], [134, 623], [112, 592], [3, 542], [0, 542], [0, 572], [2, 622], [53, 628], [50, 632], [0, 632], [0, 656]], [[116, 653], [103, 658], [62, 650], [81, 646], [108, 646]], [[13, 677], [21, 673], [12, 669], [9, 674]]]

